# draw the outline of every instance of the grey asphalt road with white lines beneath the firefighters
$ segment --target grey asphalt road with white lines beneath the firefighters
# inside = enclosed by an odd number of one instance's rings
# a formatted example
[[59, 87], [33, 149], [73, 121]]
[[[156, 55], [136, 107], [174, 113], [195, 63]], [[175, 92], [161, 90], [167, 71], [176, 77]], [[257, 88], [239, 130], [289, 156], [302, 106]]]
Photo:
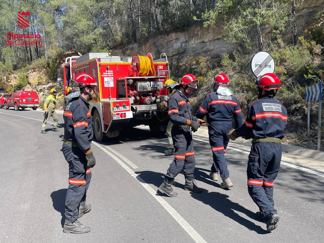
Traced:
[[[59, 123], [63, 115], [58, 114]], [[212, 153], [207, 139], [195, 136], [197, 186], [178, 197], [156, 193], [172, 161], [164, 156], [166, 136], [147, 129], [123, 130], [105, 143], [93, 142], [97, 164], [80, 218], [87, 234], [63, 233], [68, 164], [62, 152], [63, 128], [41, 134], [43, 113], [0, 109], [0, 242], [323, 242], [324, 177], [282, 165], [274, 183], [281, 221], [271, 233], [254, 213], [246, 185], [248, 155], [227, 149], [231, 190], [208, 175]], [[50, 119], [50, 121], [52, 121]], [[63, 125], [63, 124], [62, 124]]]

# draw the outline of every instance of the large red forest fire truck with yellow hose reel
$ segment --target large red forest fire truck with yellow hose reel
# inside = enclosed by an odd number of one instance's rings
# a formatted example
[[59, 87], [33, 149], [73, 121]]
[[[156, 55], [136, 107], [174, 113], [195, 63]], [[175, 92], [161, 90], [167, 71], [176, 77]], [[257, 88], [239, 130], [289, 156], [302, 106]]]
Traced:
[[105, 135], [118, 136], [124, 126], [149, 125], [153, 133], [166, 132], [168, 112], [158, 102], [168, 99], [168, 91], [163, 88], [169, 78], [165, 53], [157, 60], [150, 53], [133, 57], [110, 53], [67, 57], [58, 69], [58, 81], [64, 81], [65, 92], [69, 81], [79, 73], [92, 75], [98, 83], [89, 102], [98, 141]]

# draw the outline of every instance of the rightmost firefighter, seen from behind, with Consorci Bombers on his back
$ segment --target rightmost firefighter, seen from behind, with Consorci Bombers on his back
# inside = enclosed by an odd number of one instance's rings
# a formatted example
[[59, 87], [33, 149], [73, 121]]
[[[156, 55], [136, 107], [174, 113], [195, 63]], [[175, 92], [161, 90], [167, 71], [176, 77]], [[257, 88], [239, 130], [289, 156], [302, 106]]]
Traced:
[[252, 138], [247, 168], [248, 191], [260, 209], [257, 216], [267, 224], [267, 230], [277, 227], [279, 216], [274, 209], [273, 181], [281, 161], [281, 139], [287, 121], [286, 108], [273, 97], [281, 88], [279, 78], [268, 73], [257, 82], [258, 100], [248, 108], [247, 118], [238, 129], [232, 129], [228, 137]]

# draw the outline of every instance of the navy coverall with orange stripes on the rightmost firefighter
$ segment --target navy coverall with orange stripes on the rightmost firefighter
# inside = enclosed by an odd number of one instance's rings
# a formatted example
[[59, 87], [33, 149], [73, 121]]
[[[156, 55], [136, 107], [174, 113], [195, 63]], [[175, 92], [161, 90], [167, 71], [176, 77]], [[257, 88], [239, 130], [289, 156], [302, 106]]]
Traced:
[[[260, 98], [248, 107], [244, 124], [235, 131], [239, 137], [284, 137], [287, 121], [286, 108], [272, 96]], [[257, 142], [251, 146], [247, 168], [249, 195], [264, 217], [276, 214], [273, 201], [273, 181], [281, 161], [281, 145], [275, 142]]]

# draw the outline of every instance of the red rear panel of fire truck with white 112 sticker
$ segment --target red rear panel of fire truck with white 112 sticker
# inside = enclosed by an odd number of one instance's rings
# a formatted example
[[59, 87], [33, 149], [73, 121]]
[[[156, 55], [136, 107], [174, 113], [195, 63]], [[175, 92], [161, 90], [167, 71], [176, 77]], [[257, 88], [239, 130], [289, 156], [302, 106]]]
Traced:
[[116, 64], [101, 64], [100, 77], [102, 98], [117, 98]]

